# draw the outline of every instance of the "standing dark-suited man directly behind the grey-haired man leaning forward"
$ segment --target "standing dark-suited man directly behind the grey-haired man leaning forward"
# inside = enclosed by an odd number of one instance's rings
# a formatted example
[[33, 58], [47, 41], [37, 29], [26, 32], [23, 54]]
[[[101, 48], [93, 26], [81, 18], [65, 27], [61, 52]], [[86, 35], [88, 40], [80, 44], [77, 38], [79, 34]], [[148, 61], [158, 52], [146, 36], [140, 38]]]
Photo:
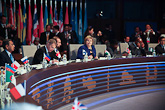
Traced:
[[54, 33], [50, 32], [50, 25], [46, 25], [46, 31], [41, 33], [40, 44], [46, 44], [49, 39], [52, 39]]

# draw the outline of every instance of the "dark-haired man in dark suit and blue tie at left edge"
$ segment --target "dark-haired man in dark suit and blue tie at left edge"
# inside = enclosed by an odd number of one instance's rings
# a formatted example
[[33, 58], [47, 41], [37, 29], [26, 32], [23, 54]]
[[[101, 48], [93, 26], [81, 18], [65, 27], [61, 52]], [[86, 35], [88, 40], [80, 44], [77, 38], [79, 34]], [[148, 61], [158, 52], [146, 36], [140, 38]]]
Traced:
[[12, 52], [15, 49], [15, 45], [12, 40], [3, 40], [4, 51], [0, 53], [0, 66], [5, 66], [5, 63], [12, 64], [14, 62], [14, 57]]

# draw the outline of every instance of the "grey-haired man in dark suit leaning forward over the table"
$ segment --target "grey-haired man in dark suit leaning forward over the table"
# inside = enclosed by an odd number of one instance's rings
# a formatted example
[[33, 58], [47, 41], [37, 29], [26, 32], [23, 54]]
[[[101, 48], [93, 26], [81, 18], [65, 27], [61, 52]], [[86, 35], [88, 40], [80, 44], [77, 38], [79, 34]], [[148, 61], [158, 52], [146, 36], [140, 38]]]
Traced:
[[39, 48], [33, 58], [33, 64], [40, 64], [43, 61], [44, 53], [51, 57], [52, 63], [58, 62], [58, 57], [54, 49], [56, 48], [56, 41], [54, 39], [49, 39], [45, 46]]

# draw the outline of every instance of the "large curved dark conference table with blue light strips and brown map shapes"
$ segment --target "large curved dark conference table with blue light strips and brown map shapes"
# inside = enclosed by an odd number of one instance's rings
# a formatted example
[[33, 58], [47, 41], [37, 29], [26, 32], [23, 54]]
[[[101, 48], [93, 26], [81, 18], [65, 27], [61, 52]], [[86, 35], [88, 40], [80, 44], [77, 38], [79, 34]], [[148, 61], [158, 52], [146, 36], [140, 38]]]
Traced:
[[[55, 110], [103, 93], [165, 84], [165, 56], [118, 58], [54, 65], [16, 78], [26, 80], [26, 96], [14, 100]], [[71, 109], [71, 108], [70, 108]]]

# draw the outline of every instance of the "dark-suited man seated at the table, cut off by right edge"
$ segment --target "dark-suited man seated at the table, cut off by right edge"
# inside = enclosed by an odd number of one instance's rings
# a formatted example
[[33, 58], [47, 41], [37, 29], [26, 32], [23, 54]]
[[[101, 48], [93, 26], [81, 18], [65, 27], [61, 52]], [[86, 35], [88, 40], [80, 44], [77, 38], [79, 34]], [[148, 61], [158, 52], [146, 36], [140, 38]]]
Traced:
[[165, 37], [160, 37], [160, 43], [155, 47], [156, 54], [162, 55], [165, 53]]

